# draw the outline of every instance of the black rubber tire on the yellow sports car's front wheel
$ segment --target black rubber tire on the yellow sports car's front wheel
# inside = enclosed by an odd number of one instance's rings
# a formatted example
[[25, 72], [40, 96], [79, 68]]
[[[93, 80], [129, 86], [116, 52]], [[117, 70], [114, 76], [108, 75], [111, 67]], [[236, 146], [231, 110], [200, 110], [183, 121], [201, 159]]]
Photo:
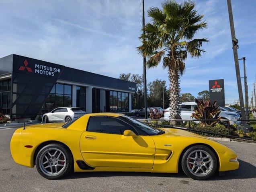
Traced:
[[[207, 164], [205, 164], [207, 166], [207, 168], [209, 168], [209, 171], [206, 169], [205, 165], [202, 165], [203, 162], [201, 161], [201, 158], [198, 157], [195, 162], [197, 162], [197, 165], [195, 165], [195, 168], [198, 168], [199, 169], [199, 172], [198, 173], [194, 173], [192, 174], [193, 172], [193, 168], [192, 171], [188, 168], [190, 163], [187, 163], [188, 159], [188, 156], [190, 156], [190, 154], [193, 154], [193, 152], [197, 151], [198, 154], [200, 154], [200, 151], [201, 152], [206, 152], [208, 153], [207, 155], [210, 155], [211, 156], [211, 159], [210, 158], [206, 158], [206, 162], [209, 161], [209, 160], [212, 160], [212, 163], [208, 163], [208, 166]], [[205, 156], [206, 157], [206, 156]], [[191, 157], [192, 158], [192, 157]], [[191, 159], [190, 159], [191, 161]], [[193, 160], [192, 160], [193, 161]], [[204, 160], [203, 160], [204, 161]], [[194, 163], [195, 163], [194, 162]], [[200, 162], [200, 163], [199, 163]], [[196, 163], [195, 163], [196, 164]], [[182, 156], [182, 161], [181, 161], [181, 166], [182, 166], [182, 170], [184, 171], [184, 173], [189, 176], [190, 178], [193, 178], [194, 180], [206, 180], [208, 178], [210, 178], [211, 176], [213, 176], [213, 174], [216, 172], [217, 170], [217, 158], [215, 156], [215, 153], [207, 146], [204, 146], [204, 145], [196, 145], [196, 146], [192, 146], [190, 148], [188, 148], [183, 156]], [[194, 166], [194, 165], [191, 165], [191, 166]], [[194, 170], [197, 170], [195, 169]], [[201, 169], [201, 170], [200, 170]], [[204, 173], [203, 170], [204, 169]], [[200, 173], [201, 172], [201, 173]], [[208, 172], [208, 173], [207, 173]], [[199, 174], [202, 174], [202, 175], [199, 175]]]

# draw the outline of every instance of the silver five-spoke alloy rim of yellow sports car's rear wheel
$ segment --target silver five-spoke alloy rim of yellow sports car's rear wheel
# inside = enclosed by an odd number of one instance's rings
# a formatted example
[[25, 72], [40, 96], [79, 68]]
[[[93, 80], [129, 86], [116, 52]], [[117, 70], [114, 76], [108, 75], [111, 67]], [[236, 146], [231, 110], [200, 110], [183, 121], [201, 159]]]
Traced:
[[57, 176], [66, 168], [66, 156], [57, 148], [46, 149], [39, 157], [39, 168], [47, 176]]

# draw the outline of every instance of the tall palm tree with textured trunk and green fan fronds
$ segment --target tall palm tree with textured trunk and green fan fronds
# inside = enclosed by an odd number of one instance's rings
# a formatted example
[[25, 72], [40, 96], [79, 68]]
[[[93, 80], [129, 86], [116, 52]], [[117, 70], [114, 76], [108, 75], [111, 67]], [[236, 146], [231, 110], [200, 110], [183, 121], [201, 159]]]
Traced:
[[[154, 68], [160, 63], [168, 69], [170, 119], [180, 119], [180, 86], [179, 78], [184, 73], [188, 54], [193, 58], [201, 56], [201, 49], [206, 38], [194, 38], [195, 34], [207, 28], [203, 15], [194, 9], [195, 3], [184, 1], [179, 4], [175, 0], [162, 3], [162, 8], [152, 7], [147, 15], [152, 21], [147, 23], [139, 37], [142, 45], [138, 52], [147, 57], [147, 68]], [[175, 124], [175, 122], [170, 122]]]

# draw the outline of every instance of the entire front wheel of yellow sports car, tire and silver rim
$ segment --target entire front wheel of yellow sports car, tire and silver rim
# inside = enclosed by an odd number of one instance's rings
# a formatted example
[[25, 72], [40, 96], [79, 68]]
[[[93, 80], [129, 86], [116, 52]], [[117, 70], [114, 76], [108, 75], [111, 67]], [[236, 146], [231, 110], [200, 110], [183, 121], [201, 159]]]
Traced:
[[217, 170], [217, 158], [214, 152], [203, 145], [193, 146], [186, 150], [181, 164], [184, 173], [195, 180], [208, 179]]

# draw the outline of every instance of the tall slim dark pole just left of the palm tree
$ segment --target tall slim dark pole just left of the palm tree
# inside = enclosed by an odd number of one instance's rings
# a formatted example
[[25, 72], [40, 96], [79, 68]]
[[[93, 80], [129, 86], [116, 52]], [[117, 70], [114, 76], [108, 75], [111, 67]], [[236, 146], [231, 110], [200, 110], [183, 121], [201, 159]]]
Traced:
[[[142, 0], [142, 23], [143, 23], [143, 34], [145, 34], [145, 10], [144, 0]], [[145, 119], [147, 119], [147, 70], [146, 70], [146, 57], [143, 57], [143, 84], [144, 84], [144, 109]]]

